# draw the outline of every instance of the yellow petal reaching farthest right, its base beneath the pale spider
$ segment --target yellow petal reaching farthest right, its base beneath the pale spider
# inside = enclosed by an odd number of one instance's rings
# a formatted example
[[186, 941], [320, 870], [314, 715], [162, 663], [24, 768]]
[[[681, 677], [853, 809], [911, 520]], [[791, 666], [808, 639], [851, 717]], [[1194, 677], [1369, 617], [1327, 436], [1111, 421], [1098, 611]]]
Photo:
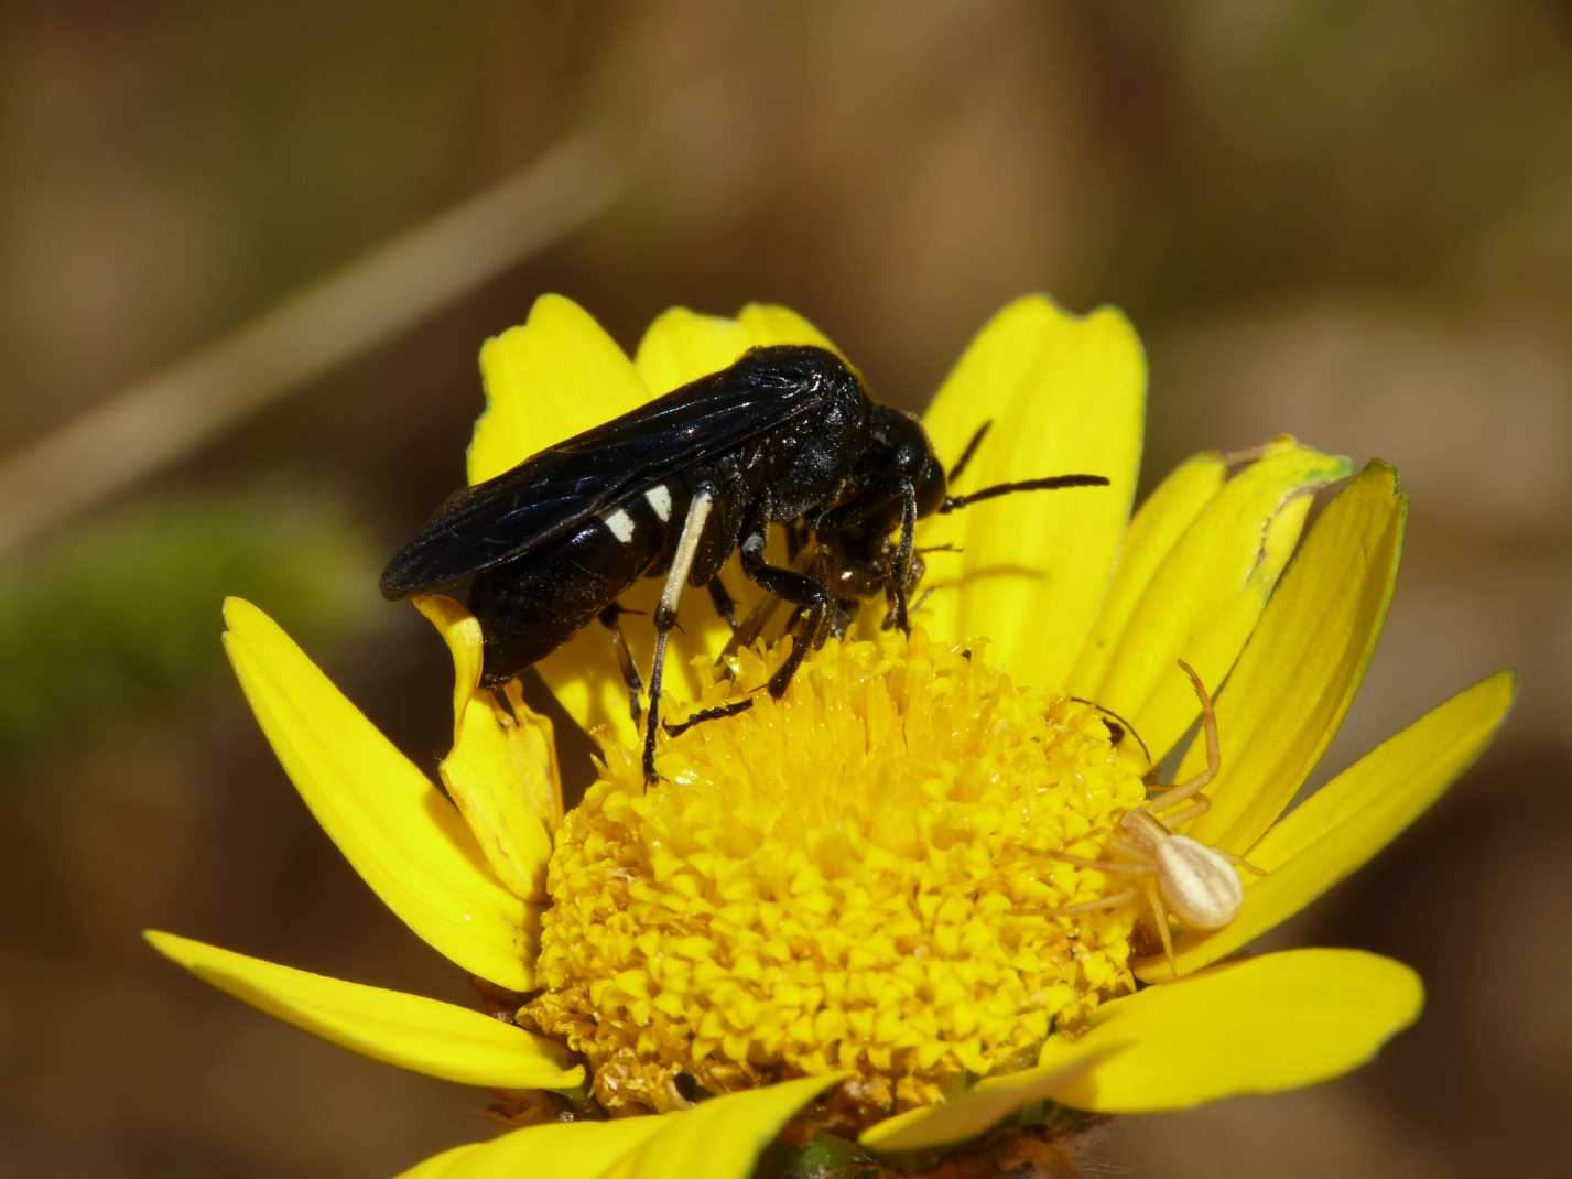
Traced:
[[[1179, 971], [1215, 962], [1286, 921], [1391, 843], [1490, 744], [1515, 687], [1509, 671], [1475, 684], [1291, 811], [1250, 849], [1250, 861], [1267, 876], [1245, 876], [1239, 916], [1212, 934], [1182, 938]], [[1162, 957], [1135, 967], [1146, 982], [1171, 976]]]

